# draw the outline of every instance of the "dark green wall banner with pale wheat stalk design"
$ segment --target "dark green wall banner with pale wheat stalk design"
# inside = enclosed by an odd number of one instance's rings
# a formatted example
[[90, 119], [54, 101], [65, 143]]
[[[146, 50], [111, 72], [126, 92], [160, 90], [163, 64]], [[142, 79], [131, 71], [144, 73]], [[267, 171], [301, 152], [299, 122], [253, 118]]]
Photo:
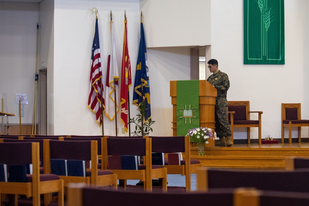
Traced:
[[284, 64], [284, 0], [243, 0], [243, 63]]

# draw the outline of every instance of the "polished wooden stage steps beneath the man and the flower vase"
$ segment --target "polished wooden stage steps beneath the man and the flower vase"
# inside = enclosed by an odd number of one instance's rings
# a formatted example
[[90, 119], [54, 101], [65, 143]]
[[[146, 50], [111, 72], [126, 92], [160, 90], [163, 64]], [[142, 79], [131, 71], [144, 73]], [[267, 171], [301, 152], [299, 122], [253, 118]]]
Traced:
[[204, 156], [198, 156], [197, 148], [191, 147], [192, 159], [213, 168], [284, 169], [286, 156], [309, 157], [309, 143], [205, 147]]

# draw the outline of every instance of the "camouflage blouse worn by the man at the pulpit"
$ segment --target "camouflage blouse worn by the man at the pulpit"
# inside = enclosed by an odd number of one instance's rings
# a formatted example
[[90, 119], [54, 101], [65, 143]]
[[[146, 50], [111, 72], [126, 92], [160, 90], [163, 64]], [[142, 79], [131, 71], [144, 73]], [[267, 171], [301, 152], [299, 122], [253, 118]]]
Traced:
[[230, 88], [230, 81], [227, 74], [218, 71], [217, 74], [212, 74], [207, 78], [207, 82], [217, 88], [217, 97], [215, 107], [227, 106], [226, 93]]

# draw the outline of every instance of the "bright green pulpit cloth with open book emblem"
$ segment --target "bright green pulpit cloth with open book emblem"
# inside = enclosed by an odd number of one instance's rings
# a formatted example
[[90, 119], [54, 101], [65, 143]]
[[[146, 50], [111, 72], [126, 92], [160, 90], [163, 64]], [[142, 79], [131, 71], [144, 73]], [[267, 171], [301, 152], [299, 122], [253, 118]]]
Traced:
[[[177, 136], [200, 127], [199, 80], [177, 81]], [[192, 141], [192, 140], [191, 140]]]

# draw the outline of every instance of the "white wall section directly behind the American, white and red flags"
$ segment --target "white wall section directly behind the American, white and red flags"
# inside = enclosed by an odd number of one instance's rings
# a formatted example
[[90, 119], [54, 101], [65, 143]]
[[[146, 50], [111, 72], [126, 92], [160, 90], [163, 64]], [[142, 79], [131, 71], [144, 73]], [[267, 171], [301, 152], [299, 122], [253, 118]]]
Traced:
[[[95, 13], [98, 9], [101, 65], [106, 74], [109, 22], [112, 10], [115, 39], [121, 66], [124, 38], [124, 12], [128, 20], [128, 46], [132, 77], [138, 54], [140, 33], [139, 1], [55, 1], [54, 22], [54, 134], [99, 135], [101, 128], [95, 114], [88, 108], [91, 48], [95, 30]], [[121, 74], [121, 68], [119, 68]], [[103, 77], [103, 82], [106, 76]], [[133, 88], [133, 86], [131, 87]], [[133, 90], [130, 90], [131, 98]], [[119, 95], [119, 94], [118, 94]], [[131, 106], [133, 111], [136, 110]], [[120, 113], [117, 116], [118, 128]], [[114, 123], [104, 118], [104, 134], [115, 135]], [[121, 133], [121, 129], [120, 129]], [[121, 134], [120, 134], [121, 135]]]

